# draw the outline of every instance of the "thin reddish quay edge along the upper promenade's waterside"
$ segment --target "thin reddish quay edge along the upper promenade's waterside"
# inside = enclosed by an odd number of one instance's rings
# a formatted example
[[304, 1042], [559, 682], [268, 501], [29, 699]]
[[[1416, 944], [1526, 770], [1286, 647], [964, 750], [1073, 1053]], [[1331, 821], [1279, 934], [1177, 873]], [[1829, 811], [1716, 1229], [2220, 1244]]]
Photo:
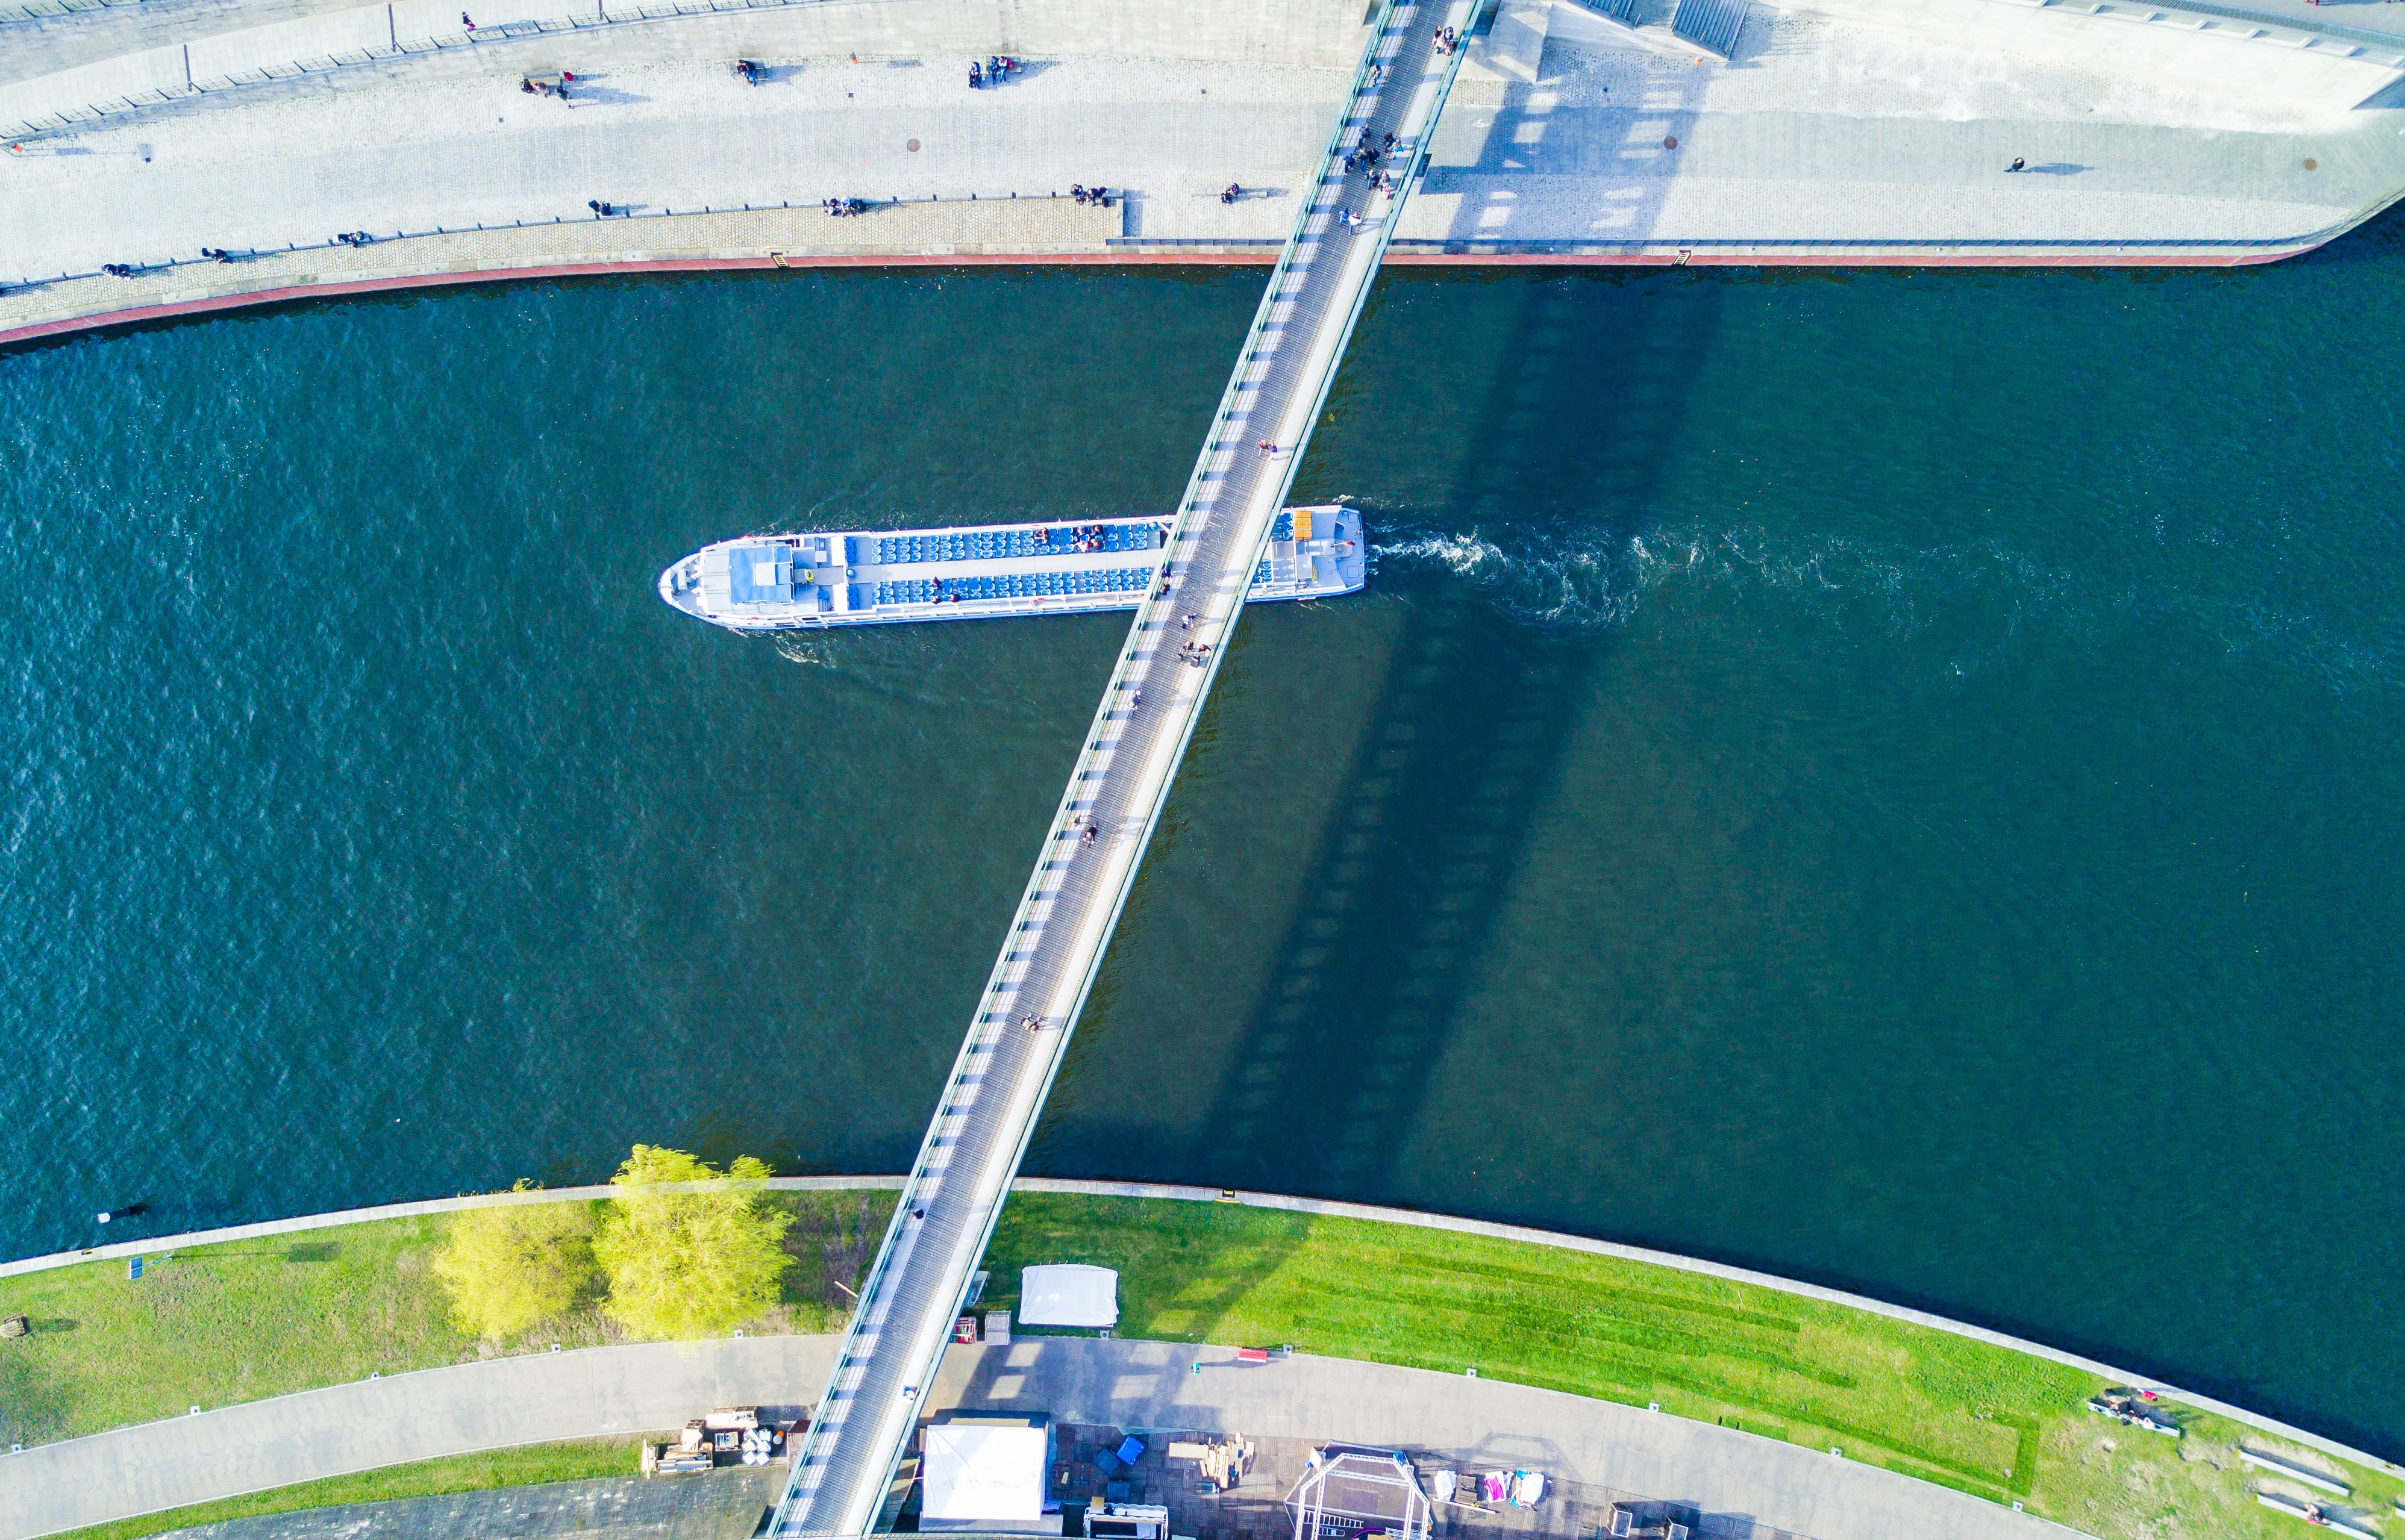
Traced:
[[[2025, 250], [1938, 250], [1902, 247], [1861, 252], [1409, 252], [1390, 250], [1388, 267], [2253, 267], [2309, 252], [2321, 240], [2282, 247], [2167, 247], [2145, 252], [2051, 252]], [[0, 332], [0, 348], [72, 336], [101, 327], [137, 327], [219, 310], [281, 305], [289, 300], [334, 300], [358, 293], [397, 293], [406, 288], [443, 288], [459, 283], [527, 283], [539, 279], [594, 279], [611, 274], [669, 271], [743, 271], [772, 267], [1270, 267], [1277, 247], [1248, 250], [1145, 250], [1145, 252], [863, 252], [863, 255], [789, 255], [789, 257], [671, 257], [657, 262], [544, 262], [527, 267], [481, 267], [462, 271], [397, 274], [387, 279], [344, 279], [332, 283], [286, 283], [245, 293], [219, 293], [164, 305], [127, 305]]]

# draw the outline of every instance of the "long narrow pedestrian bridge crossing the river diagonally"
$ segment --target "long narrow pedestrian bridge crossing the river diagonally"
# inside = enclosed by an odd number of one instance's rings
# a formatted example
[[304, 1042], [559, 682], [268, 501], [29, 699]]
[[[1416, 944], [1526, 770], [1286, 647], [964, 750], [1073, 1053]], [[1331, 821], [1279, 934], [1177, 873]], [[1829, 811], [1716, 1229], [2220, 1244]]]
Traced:
[[[909, 1446], [969, 1276], [1044, 1110], [1070, 1028], [1169, 800], [1344, 358], [1378, 259], [1426, 163], [1477, 0], [1388, 0], [1313, 192], [1270, 274], [1178, 505], [1162, 581], [1135, 613], [1044, 855], [979, 995], [919, 1160], [818, 1403], [774, 1535], [866, 1535]], [[1467, 43], [1467, 38], [1462, 38]], [[1385, 147], [1376, 166], [1349, 151]], [[1380, 173], [1392, 190], [1378, 187]]]

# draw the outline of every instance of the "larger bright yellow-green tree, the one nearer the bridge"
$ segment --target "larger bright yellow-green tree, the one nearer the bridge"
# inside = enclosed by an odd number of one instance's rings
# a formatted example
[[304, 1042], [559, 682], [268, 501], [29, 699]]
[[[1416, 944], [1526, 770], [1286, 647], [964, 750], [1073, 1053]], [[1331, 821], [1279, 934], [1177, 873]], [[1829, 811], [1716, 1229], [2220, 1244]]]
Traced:
[[[669, 1192], [671, 1182], [734, 1180], [748, 1187]], [[594, 1237], [608, 1273], [601, 1305], [649, 1338], [714, 1336], [762, 1314], [794, 1259], [784, 1232], [794, 1216], [767, 1204], [767, 1165], [738, 1156], [724, 1172], [685, 1151], [637, 1144], [611, 1184], [611, 1213]]]

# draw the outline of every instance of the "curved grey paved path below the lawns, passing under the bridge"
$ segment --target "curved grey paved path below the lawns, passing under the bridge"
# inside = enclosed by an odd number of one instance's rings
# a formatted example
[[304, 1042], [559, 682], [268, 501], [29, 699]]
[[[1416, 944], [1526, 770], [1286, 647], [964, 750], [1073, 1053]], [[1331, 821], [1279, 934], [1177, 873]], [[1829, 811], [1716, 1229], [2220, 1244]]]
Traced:
[[[428, 1369], [127, 1427], [0, 1458], [0, 1540], [373, 1466], [536, 1439], [681, 1427], [779, 1405], [832, 1336], [587, 1348]], [[957, 1348], [926, 1410], [1049, 1410], [1075, 1422], [1405, 1446], [1534, 1463], [1823, 1540], [2044, 1540], [2059, 1526], [1828, 1454], [1556, 1391], [1332, 1357], [1236, 1367], [1229, 1348], [1022, 1338]], [[1193, 1365], [1205, 1365], [1202, 1374]]]

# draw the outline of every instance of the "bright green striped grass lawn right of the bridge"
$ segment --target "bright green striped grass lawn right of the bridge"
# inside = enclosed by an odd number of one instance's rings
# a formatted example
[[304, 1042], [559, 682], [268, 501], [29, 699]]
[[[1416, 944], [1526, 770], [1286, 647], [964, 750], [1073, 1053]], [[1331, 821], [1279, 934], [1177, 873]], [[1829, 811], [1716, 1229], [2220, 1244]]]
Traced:
[[[986, 1254], [988, 1297], [1013, 1305], [1017, 1271], [1037, 1261], [1118, 1269], [1121, 1336], [1294, 1343], [1659, 1403], [2114, 1540], [2311, 1533], [2253, 1502], [2234, 1454], [2246, 1429], [2232, 1422], [2174, 1408], [2184, 1439], [2131, 1429], [2085, 1410], [2104, 1381], [2078, 1369], [1777, 1290], [1412, 1225], [1022, 1194]], [[2338, 1470], [2263, 1434], [2246, 1441]], [[2400, 1490], [2371, 1470], [2342, 1480], [2367, 1516], [2388, 1516]]]

